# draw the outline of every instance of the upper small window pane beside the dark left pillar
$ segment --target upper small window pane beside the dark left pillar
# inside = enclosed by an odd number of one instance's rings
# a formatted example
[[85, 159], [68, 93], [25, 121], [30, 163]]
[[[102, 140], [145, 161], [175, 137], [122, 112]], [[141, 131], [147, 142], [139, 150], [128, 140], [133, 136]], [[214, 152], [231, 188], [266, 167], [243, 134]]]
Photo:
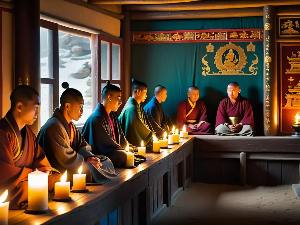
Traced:
[[52, 61], [52, 30], [41, 28], [41, 77], [53, 77]]

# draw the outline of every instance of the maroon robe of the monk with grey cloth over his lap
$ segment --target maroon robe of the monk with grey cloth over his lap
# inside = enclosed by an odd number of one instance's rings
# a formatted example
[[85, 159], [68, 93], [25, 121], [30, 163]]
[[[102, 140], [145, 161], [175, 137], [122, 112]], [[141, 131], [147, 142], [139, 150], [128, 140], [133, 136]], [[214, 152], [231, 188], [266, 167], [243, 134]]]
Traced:
[[215, 128], [224, 123], [228, 123], [230, 125], [231, 122], [229, 121], [229, 117], [240, 118], [240, 123], [243, 125], [250, 125], [254, 131], [253, 112], [250, 101], [240, 94], [238, 94], [238, 98], [236, 98], [236, 102], [234, 104], [228, 96], [220, 102], [217, 111]]

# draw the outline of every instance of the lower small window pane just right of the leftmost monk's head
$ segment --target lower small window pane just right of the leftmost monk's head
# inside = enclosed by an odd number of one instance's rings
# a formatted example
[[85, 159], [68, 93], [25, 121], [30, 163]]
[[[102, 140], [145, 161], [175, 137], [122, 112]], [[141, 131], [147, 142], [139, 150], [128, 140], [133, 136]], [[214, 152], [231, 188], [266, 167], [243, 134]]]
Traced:
[[53, 89], [52, 84], [41, 84], [41, 127], [52, 116], [53, 110]]

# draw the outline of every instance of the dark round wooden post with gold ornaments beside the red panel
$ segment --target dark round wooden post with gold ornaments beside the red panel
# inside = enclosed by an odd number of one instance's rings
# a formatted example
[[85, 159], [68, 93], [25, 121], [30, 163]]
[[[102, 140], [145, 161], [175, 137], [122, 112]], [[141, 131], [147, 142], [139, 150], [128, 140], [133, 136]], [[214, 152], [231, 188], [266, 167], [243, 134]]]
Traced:
[[264, 11], [264, 134], [276, 136], [278, 132], [276, 11], [267, 5]]

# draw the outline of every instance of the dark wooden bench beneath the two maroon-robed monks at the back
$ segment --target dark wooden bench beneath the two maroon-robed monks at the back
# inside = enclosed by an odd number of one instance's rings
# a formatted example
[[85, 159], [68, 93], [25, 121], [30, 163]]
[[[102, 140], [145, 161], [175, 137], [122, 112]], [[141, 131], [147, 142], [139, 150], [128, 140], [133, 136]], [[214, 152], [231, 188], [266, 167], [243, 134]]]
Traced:
[[194, 181], [216, 184], [299, 183], [300, 139], [198, 135]]

